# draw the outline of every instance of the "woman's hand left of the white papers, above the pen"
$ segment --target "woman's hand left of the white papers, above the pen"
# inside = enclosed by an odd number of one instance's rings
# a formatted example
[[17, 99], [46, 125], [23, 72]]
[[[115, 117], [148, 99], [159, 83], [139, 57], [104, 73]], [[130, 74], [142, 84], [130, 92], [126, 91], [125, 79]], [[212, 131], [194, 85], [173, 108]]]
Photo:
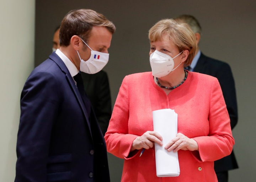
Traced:
[[146, 131], [142, 136], [135, 138], [132, 144], [131, 152], [142, 148], [149, 149], [154, 146], [154, 143], [162, 146], [162, 137], [156, 131]]

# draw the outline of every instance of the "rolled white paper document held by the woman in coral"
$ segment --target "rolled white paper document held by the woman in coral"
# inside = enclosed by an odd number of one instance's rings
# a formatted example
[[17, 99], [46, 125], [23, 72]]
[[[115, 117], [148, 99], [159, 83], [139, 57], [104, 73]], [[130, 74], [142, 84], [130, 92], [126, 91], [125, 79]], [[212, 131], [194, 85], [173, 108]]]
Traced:
[[172, 109], [153, 111], [154, 131], [158, 132], [163, 140], [162, 146], [155, 143], [156, 176], [172, 177], [180, 175], [180, 165], [177, 152], [168, 152], [164, 147], [177, 134], [178, 115]]

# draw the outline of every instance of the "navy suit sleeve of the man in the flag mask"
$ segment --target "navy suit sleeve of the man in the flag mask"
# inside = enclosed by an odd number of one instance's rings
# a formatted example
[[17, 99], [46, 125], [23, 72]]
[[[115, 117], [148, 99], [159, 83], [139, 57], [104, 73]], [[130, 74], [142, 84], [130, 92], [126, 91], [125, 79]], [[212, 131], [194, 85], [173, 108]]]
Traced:
[[58, 110], [57, 79], [32, 73], [21, 94], [15, 182], [46, 182], [51, 130]]

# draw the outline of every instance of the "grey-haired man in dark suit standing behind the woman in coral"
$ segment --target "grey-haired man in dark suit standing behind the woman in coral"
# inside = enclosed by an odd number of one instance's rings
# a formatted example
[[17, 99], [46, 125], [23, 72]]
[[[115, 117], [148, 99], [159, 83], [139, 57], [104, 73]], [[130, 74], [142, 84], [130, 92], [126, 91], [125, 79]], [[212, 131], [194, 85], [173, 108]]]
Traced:
[[[197, 19], [191, 15], [181, 15], [176, 17], [175, 20], [190, 25], [196, 36], [198, 45], [202, 29]], [[199, 47], [197, 47], [196, 56], [190, 67], [187, 67], [186, 69], [193, 72], [208, 74], [219, 80], [230, 117], [231, 129], [233, 129], [238, 122], [238, 110], [236, 104], [235, 83], [230, 66], [225, 62], [205, 56], [199, 50]], [[236, 163], [233, 151], [230, 155], [214, 162], [214, 170], [219, 182], [228, 182], [228, 170], [236, 168], [238, 168], [238, 164]]]

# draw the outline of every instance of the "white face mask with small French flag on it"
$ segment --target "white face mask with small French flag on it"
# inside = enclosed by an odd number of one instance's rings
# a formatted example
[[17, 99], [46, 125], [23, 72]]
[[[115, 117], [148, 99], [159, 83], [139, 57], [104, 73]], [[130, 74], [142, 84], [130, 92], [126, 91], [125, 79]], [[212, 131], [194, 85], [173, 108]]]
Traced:
[[[84, 40], [82, 40], [82, 41], [85, 43]], [[85, 43], [85, 45], [87, 45], [87, 44]], [[89, 46], [87, 45], [87, 47], [89, 47]], [[80, 62], [80, 71], [84, 72], [84, 73], [88, 73], [88, 74], [95, 74], [95, 73], [99, 72], [100, 70], [102, 70], [102, 68], [104, 68], [106, 66], [106, 64], [108, 62], [109, 54], [94, 51], [91, 48], [90, 48], [90, 50], [91, 50], [91, 56], [87, 61], [84, 61], [83, 59], [81, 59], [78, 51], [76, 51], [76, 52], [78, 53], [78, 56], [81, 61]]]

